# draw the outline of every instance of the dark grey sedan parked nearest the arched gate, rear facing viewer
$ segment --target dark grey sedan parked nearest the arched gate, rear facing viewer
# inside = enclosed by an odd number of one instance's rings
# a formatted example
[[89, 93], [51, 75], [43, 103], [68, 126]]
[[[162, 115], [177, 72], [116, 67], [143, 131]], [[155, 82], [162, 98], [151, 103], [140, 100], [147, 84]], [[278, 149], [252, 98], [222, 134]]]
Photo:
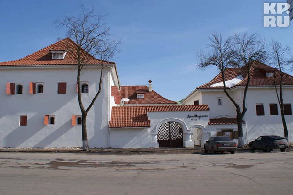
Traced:
[[211, 137], [206, 143], [204, 143], [205, 153], [212, 151], [213, 154], [216, 152], [231, 152], [231, 154], [234, 154], [236, 150], [236, 142], [229, 137]]

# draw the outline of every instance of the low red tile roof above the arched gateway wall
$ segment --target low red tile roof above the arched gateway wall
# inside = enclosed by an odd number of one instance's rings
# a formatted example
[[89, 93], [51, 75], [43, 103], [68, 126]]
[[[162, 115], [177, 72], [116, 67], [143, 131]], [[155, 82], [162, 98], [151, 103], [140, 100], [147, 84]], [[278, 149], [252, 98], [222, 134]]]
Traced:
[[147, 112], [208, 110], [208, 105], [117, 106], [112, 107], [109, 127], [150, 127]]

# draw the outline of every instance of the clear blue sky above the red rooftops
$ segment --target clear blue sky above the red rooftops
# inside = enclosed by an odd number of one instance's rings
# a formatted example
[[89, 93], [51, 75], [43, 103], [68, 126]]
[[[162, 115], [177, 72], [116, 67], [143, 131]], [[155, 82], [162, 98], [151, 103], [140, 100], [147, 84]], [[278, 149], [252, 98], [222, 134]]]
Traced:
[[[20, 59], [65, 38], [53, 20], [78, 15], [82, 1], [1, 1], [0, 61]], [[121, 85], [147, 85], [163, 97], [179, 100], [209, 82], [217, 69], [196, 70], [197, 51], [205, 51], [213, 31], [223, 35], [253, 31], [293, 45], [289, 27], [263, 27], [263, 3], [232, 0], [88, 0], [107, 15], [113, 39], [122, 39], [115, 59]], [[291, 73], [292, 74], [292, 73]]]

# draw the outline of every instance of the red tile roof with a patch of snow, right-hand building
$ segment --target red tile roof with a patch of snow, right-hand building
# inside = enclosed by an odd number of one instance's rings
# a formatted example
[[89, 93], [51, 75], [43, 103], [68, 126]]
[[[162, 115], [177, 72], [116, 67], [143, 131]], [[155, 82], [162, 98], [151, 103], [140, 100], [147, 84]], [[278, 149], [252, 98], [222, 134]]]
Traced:
[[[272, 86], [274, 84], [274, 77], [266, 77], [266, 71], [275, 71], [276, 83], [280, 83], [280, 71], [271, 66], [267, 66], [259, 61], [252, 62], [251, 66], [251, 79], [249, 86]], [[247, 69], [245, 67], [241, 68], [228, 68], [225, 73], [225, 80], [231, 80], [241, 75], [244, 79], [239, 82], [236, 86], [245, 86], [247, 82]], [[224, 87], [211, 87], [212, 84], [223, 82], [222, 75], [219, 73], [214, 79], [209, 83], [197, 87], [197, 89], [223, 89]], [[293, 76], [284, 73], [283, 75], [283, 85], [293, 85]], [[233, 87], [232, 87], [233, 88]]]

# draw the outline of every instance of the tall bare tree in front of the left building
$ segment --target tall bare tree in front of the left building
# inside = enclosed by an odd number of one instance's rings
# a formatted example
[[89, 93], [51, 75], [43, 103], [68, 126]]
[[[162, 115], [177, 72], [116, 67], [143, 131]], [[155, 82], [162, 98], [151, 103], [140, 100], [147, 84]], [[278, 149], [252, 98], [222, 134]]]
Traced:
[[[121, 41], [111, 41], [109, 28], [104, 23], [105, 15], [96, 14], [94, 7], [86, 9], [83, 5], [81, 14], [78, 17], [64, 16], [62, 19], [55, 20], [56, 27], [67, 29], [67, 37], [76, 42], [74, 49], [68, 47], [68, 51], [74, 55], [77, 66], [77, 89], [78, 104], [82, 114], [82, 149], [88, 151], [89, 143], [86, 130], [86, 117], [89, 110], [94, 105], [102, 89], [104, 63], [113, 57], [117, 52], [117, 45]], [[70, 44], [70, 43], [68, 43]], [[84, 67], [91, 59], [100, 59], [101, 74], [99, 76], [99, 88], [87, 108], [84, 107], [81, 98], [80, 75]]]

